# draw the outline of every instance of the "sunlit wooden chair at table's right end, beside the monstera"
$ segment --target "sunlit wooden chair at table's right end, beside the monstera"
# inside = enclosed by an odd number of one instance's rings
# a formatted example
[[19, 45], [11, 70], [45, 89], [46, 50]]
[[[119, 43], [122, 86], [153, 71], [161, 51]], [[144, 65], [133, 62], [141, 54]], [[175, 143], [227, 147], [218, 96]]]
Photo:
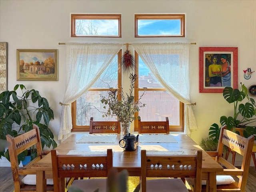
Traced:
[[[221, 127], [217, 151], [209, 152], [209, 154], [211, 156], [215, 156], [215, 160], [224, 167], [223, 172], [217, 172], [217, 177], [219, 175], [229, 177], [232, 176], [234, 178], [234, 182], [220, 185], [217, 183], [217, 192], [245, 192], [250, 168], [252, 147], [254, 144], [254, 136], [244, 138], [232, 131], [227, 130], [226, 127], [226, 125]], [[224, 145], [243, 157], [241, 168], [236, 168], [222, 157]], [[202, 190], [205, 190], [205, 186], [203, 186]]]

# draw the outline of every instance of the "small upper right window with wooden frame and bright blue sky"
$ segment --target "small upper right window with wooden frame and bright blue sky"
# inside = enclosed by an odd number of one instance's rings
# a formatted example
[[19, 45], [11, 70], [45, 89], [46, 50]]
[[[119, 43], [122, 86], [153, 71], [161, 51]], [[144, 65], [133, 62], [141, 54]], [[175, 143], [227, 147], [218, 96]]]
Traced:
[[135, 37], [185, 37], [185, 14], [135, 14]]

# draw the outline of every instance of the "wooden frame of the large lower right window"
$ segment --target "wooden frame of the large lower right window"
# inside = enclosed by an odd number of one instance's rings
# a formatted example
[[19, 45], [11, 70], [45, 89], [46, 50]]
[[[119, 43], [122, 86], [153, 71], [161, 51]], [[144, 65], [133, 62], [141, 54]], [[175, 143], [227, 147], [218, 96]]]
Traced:
[[[139, 74], [139, 66], [138, 66], [138, 60], [139, 55], [136, 51], [134, 51], [134, 59], [135, 59], [135, 66], [134, 66], [134, 72], [135, 74]], [[134, 84], [134, 98], [135, 100], [138, 100], [139, 98], [139, 91], [144, 91], [144, 88], [139, 88], [139, 81], [136, 80]], [[166, 91], [165, 88], [147, 88], [147, 91]], [[136, 117], [139, 115], [139, 112], [136, 112], [134, 114]], [[138, 131], [138, 118], [134, 120], [134, 131]], [[180, 125], [169, 125], [170, 132], [184, 132], [184, 103], [180, 102]]]

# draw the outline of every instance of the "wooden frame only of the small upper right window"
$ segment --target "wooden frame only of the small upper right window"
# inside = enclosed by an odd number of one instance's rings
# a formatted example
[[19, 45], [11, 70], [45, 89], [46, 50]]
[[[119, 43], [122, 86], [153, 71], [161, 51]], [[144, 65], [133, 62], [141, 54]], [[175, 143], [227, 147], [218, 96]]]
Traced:
[[[180, 19], [180, 35], [138, 35], [138, 20], [177, 20]], [[134, 37], [185, 37], [185, 14], [135, 14], [134, 15]]]

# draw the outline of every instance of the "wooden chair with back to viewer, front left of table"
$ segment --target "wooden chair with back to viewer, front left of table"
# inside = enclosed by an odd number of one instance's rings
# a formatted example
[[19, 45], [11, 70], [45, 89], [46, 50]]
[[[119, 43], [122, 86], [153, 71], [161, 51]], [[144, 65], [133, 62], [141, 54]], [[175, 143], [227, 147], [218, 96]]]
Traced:
[[[107, 149], [107, 154], [102, 155], [58, 155], [56, 150], [51, 150], [52, 173], [54, 192], [65, 192], [64, 178], [74, 177], [107, 177], [109, 169], [113, 166], [112, 149]], [[107, 178], [74, 180], [70, 187], [86, 189], [92, 192], [106, 191]]]

